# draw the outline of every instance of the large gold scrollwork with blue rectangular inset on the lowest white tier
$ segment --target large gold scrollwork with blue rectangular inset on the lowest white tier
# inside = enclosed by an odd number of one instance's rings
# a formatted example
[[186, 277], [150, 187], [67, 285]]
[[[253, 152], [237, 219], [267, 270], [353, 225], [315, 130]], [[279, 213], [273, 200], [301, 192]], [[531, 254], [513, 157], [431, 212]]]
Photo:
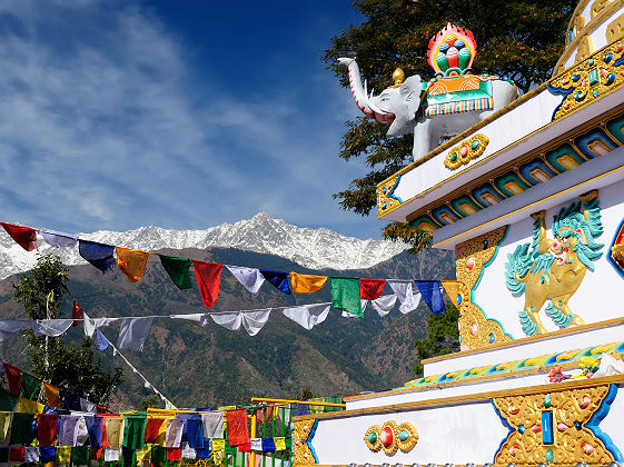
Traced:
[[495, 464], [608, 465], [612, 453], [586, 425], [596, 410], [611, 404], [605, 399], [614, 397], [613, 389], [603, 385], [494, 398], [498, 415], [512, 429]]

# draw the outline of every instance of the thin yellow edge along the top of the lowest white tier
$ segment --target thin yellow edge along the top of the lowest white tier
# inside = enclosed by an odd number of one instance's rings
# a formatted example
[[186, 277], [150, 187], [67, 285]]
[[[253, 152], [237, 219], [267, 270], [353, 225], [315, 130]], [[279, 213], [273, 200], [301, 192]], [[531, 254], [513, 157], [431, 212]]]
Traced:
[[495, 397], [509, 397], [509, 396], [526, 396], [539, 393], [551, 393], [553, 390], [568, 390], [587, 388], [601, 385], [611, 384], [623, 384], [624, 375], [605, 376], [603, 378], [590, 378], [590, 379], [568, 379], [566, 381], [548, 385], [536, 385], [528, 386], [524, 388], [515, 389], [503, 389], [494, 391], [485, 391], [477, 394], [468, 394], [460, 396], [440, 397], [428, 400], [417, 400], [412, 403], [402, 404], [390, 404], [380, 407], [364, 407], [359, 409], [350, 409], [344, 411], [334, 411], [328, 414], [316, 414], [316, 415], [301, 415], [298, 417], [293, 417], [294, 421], [310, 420], [310, 419], [323, 419], [323, 418], [349, 418], [357, 417], [361, 415], [378, 415], [378, 414], [390, 414], [397, 411], [407, 411], [423, 408], [433, 408], [435, 406], [459, 405], [462, 403], [474, 403], [474, 401], [485, 401]]

